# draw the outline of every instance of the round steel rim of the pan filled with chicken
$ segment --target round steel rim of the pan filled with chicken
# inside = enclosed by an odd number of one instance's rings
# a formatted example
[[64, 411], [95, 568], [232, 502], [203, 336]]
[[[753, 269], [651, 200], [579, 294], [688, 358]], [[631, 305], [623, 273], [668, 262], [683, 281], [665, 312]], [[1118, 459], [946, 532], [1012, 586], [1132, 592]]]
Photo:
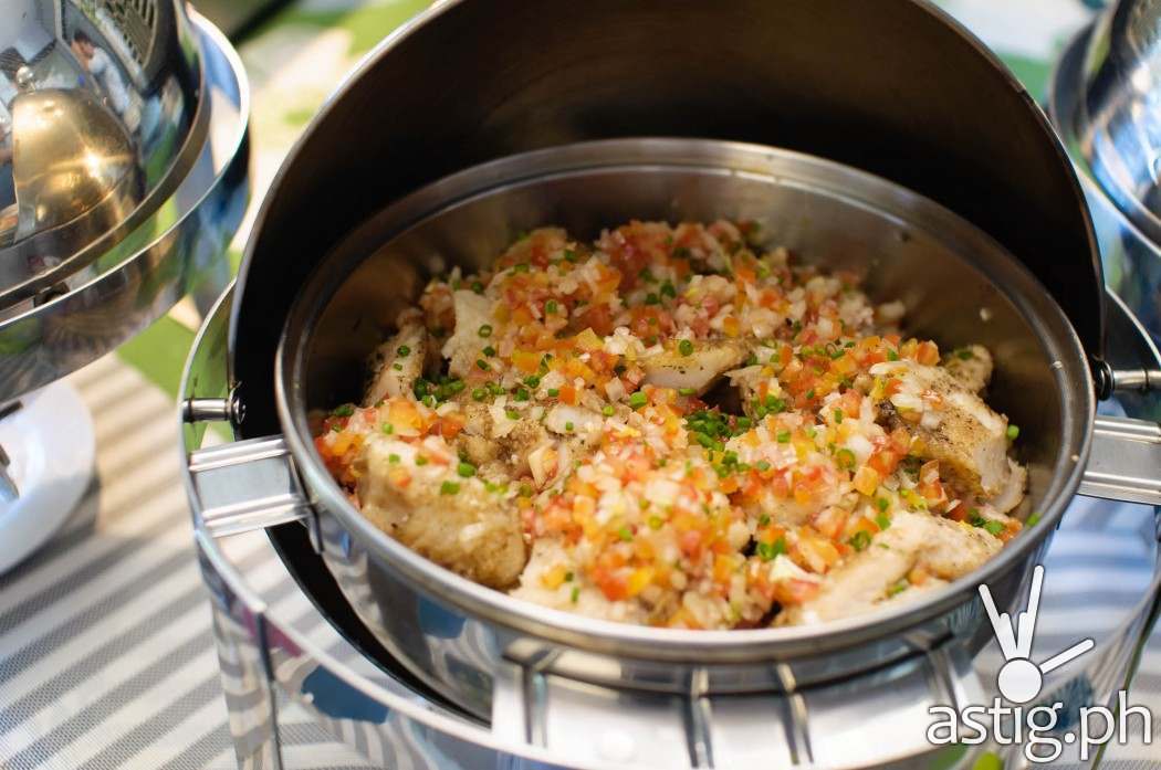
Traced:
[[[598, 162], [592, 162], [594, 153], [600, 157]], [[587, 162], [583, 162], [585, 159]], [[737, 167], [738, 159], [747, 161], [741, 169]], [[724, 160], [735, 162], [723, 166]], [[659, 166], [700, 168], [717, 174], [760, 174], [777, 177], [780, 183], [822, 186], [832, 196], [875, 210], [906, 223], [908, 227], [923, 230], [943, 242], [951, 241], [956, 246], [953, 250], [959, 254], [965, 253], [965, 246], [974, 245], [976, 248], [966, 249], [973, 255], [974, 264], [988, 277], [994, 271], [1003, 274], [1002, 284], [993, 279], [996, 291], [1033, 328], [1048, 358], [1060, 363], [1053, 366], [1053, 376], [1061, 393], [1062, 443], [1070, 445], [1062, 445], [1057, 452], [1052, 479], [1038, 511], [1040, 521], [982, 567], [931, 591], [922, 601], [819, 626], [730, 631], [652, 629], [587, 618], [513, 598], [438, 566], [375, 528], [347, 500], [313, 446], [307, 424], [302, 377], [310, 330], [334, 288], [346, 279], [349, 268], [358, 264], [359, 259], [348, 260], [342, 266], [347, 270], [331, 269], [326, 276], [320, 276], [320, 270], [316, 269], [294, 300], [275, 354], [279, 421], [318, 514], [332, 516], [339, 526], [389, 569], [441, 603], [547, 641], [590, 652], [652, 660], [745, 662], [851, 647], [929, 620], [974, 597], [981, 583], [1024, 564], [1055, 529], [1075, 494], [1088, 459], [1095, 397], [1084, 349], [1063, 311], [1019, 260], [974, 225], [916, 192], [850, 166], [763, 145], [715, 139], [606, 139], [521, 153], [461, 170], [392, 203], [348, 235], [348, 240], [354, 240], [372, 223], [382, 225], [381, 220], [387, 217], [398, 226], [391, 227], [385, 240], [380, 241], [382, 245], [447, 208], [488, 196], [499, 187], [527, 183], [533, 179], [583, 174], [585, 170], [607, 172], [619, 167]], [[837, 177], [842, 184], [836, 186], [831, 181], [828, 187], [817, 176]]]

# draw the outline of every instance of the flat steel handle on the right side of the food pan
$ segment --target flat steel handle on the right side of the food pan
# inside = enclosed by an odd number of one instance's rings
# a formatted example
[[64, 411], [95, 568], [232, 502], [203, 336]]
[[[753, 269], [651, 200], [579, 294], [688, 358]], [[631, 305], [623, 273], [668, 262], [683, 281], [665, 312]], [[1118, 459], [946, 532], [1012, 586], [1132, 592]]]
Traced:
[[1077, 492], [1089, 497], [1161, 506], [1161, 424], [1098, 415]]

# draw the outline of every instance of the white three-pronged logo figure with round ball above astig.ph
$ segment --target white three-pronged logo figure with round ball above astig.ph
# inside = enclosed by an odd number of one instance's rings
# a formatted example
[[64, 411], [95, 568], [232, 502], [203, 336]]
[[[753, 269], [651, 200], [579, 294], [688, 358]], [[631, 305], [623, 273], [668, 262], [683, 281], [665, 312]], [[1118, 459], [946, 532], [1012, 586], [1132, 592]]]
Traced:
[[1060, 668], [1093, 649], [1096, 645], [1091, 639], [1080, 641], [1065, 652], [1053, 655], [1040, 664], [1033, 663], [1032, 637], [1036, 634], [1036, 616], [1040, 611], [1040, 590], [1044, 588], [1044, 567], [1036, 566], [1032, 571], [1032, 591], [1027, 597], [1027, 610], [1021, 612], [1012, 629], [1011, 618], [1007, 612], [996, 611], [996, 603], [987, 586], [980, 586], [980, 598], [988, 611], [991, 629], [996, 632], [996, 641], [1004, 655], [1004, 664], [1000, 669], [996, 685], [1000, 695], [1012, 703], [1027, 703], [1038, 695], [1044, 685], [1044, 675]]

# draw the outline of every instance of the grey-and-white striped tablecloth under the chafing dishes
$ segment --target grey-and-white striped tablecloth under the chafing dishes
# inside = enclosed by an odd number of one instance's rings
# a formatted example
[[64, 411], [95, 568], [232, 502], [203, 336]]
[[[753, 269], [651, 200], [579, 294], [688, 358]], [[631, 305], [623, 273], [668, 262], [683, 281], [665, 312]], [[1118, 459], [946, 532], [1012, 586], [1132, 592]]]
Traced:
[[[354, 60], [423, 0], [300, 0], [241, 45], [254, 85], [255, 174], [265, 189], [286, 148]], [[1081, 0], [947, 0], [1033, 92], [1091, 9]], [[93, 411], [99, 485], [41, 552], [0, 576], [0, 768], [233, 768], [210, 611], [178, 477], [173, 390], [192, 329], [180, 313], [71, 379]], [[128, 362], [128, 363], [127, 363]], [[1058, 537], [1053, 584], [1080, 587], [1046, 606], [1046, 629], [1094, 632], [1146, 580], [1142, 517], [1094, 528], [1084, 511]], [[259, 540], [254, 540], [259, 543]], [[2, 544], [0, 544], [2, 547]], [[240, 555], [250, 579], [305, 632], [338, 647], [269, 550]], [[1068, 611], [1082, 610], [1069, 619]], [[1102, 610], [1105, 610], [1102, 613]], [[1106, 617], [1108, 616], [1108, 617]], [[1048, 635], [1047, 640], [1052, 640]], [[1161, 632], [1142, 653], [1133, 700], [1161, 718]], [[334, 743], [281, 710], [289, 768], [382, 767], [382, 747]], [[1161, 724], [1154, 726], [1161, 733]], [[1159, 744], [1112, 747], [1104, 767], [1161, 770]]]

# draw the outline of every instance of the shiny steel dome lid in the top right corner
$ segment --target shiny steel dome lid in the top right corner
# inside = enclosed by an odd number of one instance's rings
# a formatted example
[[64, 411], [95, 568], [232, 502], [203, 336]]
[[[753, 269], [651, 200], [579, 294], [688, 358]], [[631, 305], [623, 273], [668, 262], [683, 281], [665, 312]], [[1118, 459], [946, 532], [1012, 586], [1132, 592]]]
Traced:
[[1086, 48], [1070, 129], [1117, 208], [1161, 242], [1161, 5], [1119, 0]]

